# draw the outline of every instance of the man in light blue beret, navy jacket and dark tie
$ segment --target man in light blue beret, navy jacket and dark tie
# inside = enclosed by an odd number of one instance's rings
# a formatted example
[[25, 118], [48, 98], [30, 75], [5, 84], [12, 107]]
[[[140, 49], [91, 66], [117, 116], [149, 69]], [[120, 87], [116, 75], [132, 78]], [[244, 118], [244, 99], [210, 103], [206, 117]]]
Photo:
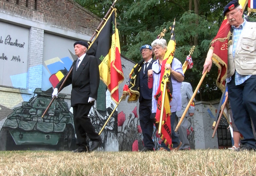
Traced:
[[143, 134], [144, 148], [141, 152], [154, 151], [155, 144], [152, 140], [152, 134], [154, 129], [154, 119], [151, 119], [151, 107], [152, 107], [152, 88], [148, 88], [148, 70], [152, 69], [152, 47], [148, 44], [141, 46], [140, 53], [143, 60], [140, 69], [140, 127]]

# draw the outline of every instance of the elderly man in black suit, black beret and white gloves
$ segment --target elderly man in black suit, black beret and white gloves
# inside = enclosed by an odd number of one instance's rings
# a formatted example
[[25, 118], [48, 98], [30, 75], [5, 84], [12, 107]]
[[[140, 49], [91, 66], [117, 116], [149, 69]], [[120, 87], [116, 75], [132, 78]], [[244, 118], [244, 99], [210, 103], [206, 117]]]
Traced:
[[[77, 137], [76, 145], [78, 146], [73, 152], [90, 152], [97, 149], [101, 143], [100, 136], [95, 132], [88, 118], [90, 109], [94, 105], [94, 100], [97, 99], [100, 83], [99, 66], [97, 58], [86, 54], [88, 50], [86, 42], [78, 41], [74, 44], [74, 48], [78, 59], [73, 62], [71, 66], [73, 67], [72, 74], [68, 76], [62, 88], [72, 84], [71, 106], [73, 107]], [[66, 76], [57, 84], [53, 90], [52, 97], [58, 97], [58, 89], [60, 89], [60, 85]], [[86, 142], [86, 134], [92, 140], [91, 148]]]

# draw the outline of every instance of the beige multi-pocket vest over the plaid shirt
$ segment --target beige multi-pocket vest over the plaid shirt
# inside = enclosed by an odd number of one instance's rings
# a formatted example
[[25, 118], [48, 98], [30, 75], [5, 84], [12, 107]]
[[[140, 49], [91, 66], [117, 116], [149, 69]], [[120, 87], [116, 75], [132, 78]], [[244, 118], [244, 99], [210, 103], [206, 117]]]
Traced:
[[227, 78], [234, 75], [235, 69], [240, 75], [256, 75], [256, 22], [245, 23], [236, 44], [235, 58], [232, 49], [233, 44], [228, 47]]

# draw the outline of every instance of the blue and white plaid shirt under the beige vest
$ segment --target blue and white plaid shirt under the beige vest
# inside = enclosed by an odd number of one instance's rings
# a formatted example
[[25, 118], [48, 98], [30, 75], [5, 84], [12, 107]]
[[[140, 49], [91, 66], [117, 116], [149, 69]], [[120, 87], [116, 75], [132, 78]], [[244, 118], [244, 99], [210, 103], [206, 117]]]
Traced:
[[[244, 28], [244, 25], [246, 23], [246, 20], [244, 19], [244, 22], [240, 24], [238, 28], [235, 26], [232, 26], [233, 30], [233, 49], [232, 49], [232, 54], [233, 58], [235, 58], [235, 52], [236, 52], [236, 44], [238, 42], [238, 39], [240, 38], [240, 35], [242, 33], [242, 30]], [[239, 73], [236, 72], [235, 70], [235, 84], [239, 85], [244, 83], [251, 75], [240, 75]], [[230, 76], [229, 78], [226, 79], [226, 82], [229, 83], [231, 81], [232, 77]]]

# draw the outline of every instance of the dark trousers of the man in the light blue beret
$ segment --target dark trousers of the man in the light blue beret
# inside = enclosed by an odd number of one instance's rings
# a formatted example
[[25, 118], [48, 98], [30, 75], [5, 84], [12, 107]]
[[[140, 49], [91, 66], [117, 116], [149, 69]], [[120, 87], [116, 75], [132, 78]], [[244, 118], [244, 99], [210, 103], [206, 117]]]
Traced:
[[143, 143], [146, 148], [154, 148], [155, 144], [152, 140], [154, 130], [154, 119], [150, 118], [152, 109], [152, 100], [143, 99], [140, 101], [139, 115], [140, 127], [143, 134]]

